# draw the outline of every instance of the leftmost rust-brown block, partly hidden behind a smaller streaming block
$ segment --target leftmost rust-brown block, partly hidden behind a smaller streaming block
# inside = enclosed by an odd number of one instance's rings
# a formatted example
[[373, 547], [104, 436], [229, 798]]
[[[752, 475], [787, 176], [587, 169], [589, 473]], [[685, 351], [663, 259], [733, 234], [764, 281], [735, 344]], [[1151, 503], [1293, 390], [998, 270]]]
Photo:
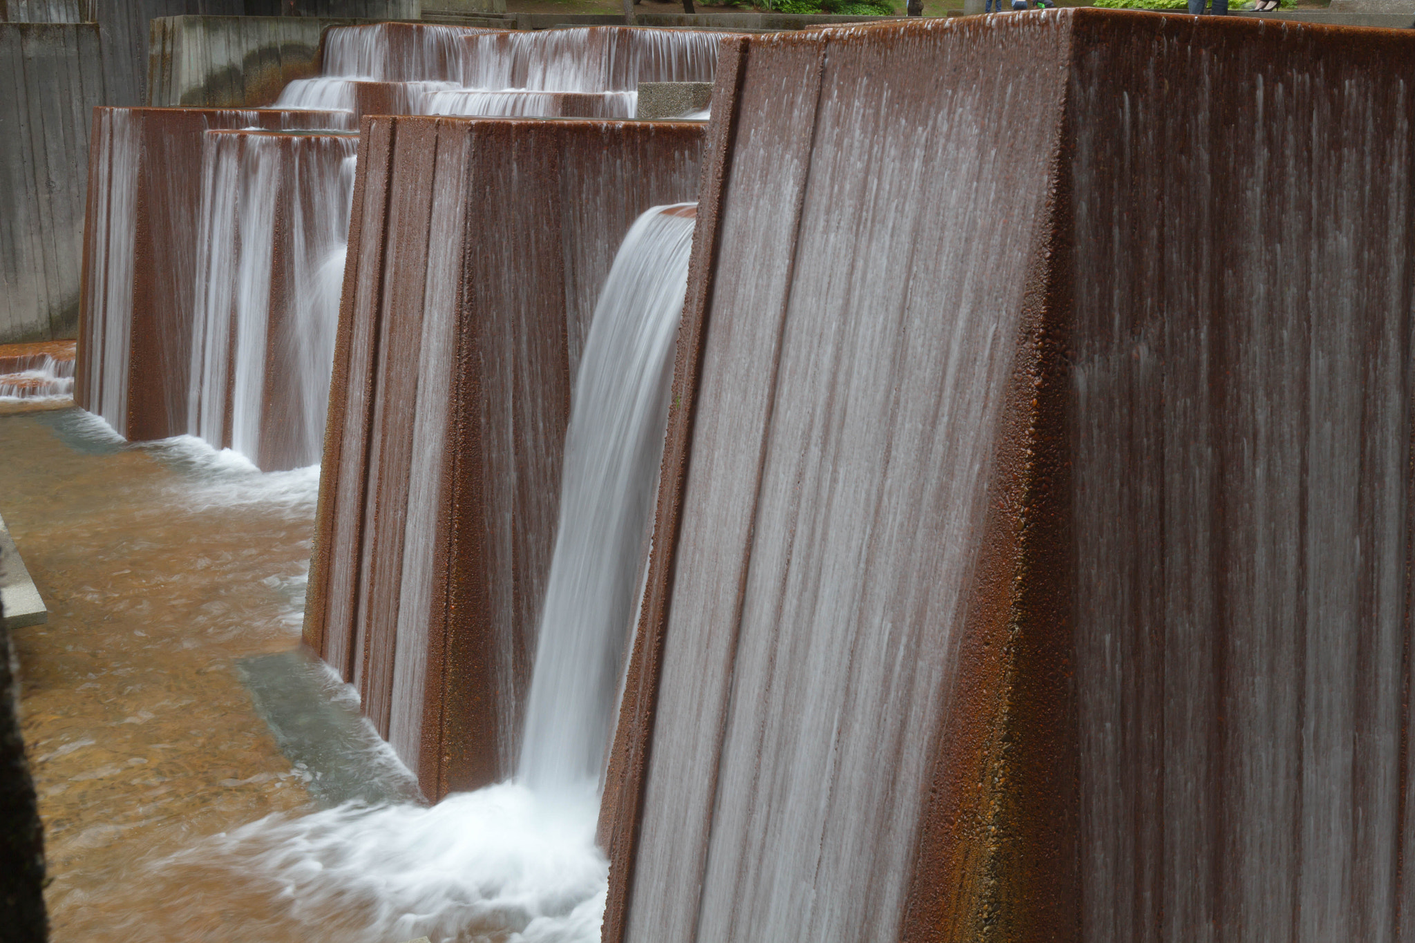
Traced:
[[190, 431], [204, 136], [345, 120], [330, 112], [95, 109], [78, 406], [132, 441]]

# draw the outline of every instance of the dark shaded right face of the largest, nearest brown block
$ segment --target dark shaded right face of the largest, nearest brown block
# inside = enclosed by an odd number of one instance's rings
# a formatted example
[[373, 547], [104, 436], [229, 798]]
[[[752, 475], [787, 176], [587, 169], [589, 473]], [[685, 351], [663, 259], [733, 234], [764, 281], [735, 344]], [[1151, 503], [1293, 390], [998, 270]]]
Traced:
[[[1084, 932], [1408, 935], [1415, 106], [1388, 76], [1412, 40], [1085, 17], [1077, 41]], [[1254, 95], [1176, 113], [1179, 68]]]

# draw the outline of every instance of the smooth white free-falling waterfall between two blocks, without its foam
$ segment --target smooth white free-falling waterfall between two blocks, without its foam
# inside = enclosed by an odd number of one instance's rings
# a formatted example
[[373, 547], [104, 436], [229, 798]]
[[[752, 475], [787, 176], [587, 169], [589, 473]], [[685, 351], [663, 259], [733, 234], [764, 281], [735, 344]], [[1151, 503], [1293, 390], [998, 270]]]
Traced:
[[640, 216], [590, 322], [522, 738], [519, 779], [536, 790], [597, 786], [604, 766], [647, 558], [693, 222], [692, 204]]

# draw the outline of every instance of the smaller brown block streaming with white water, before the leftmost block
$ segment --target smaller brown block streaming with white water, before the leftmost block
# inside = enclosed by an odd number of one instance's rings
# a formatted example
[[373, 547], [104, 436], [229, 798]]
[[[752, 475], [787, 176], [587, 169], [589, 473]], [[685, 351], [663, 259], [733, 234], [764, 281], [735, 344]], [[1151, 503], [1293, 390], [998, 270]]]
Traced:
[[188, 431], [262, 468], [320, 459], [357, 143], [207, 134]]

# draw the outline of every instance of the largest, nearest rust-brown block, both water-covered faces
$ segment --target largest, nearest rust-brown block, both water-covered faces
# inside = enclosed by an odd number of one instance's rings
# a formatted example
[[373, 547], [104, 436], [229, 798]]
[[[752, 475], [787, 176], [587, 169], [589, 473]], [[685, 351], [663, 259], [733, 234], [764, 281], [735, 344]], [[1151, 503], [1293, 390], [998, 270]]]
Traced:
[[1412, 54], [724, 45], [607, 942], [1409, 935]]

